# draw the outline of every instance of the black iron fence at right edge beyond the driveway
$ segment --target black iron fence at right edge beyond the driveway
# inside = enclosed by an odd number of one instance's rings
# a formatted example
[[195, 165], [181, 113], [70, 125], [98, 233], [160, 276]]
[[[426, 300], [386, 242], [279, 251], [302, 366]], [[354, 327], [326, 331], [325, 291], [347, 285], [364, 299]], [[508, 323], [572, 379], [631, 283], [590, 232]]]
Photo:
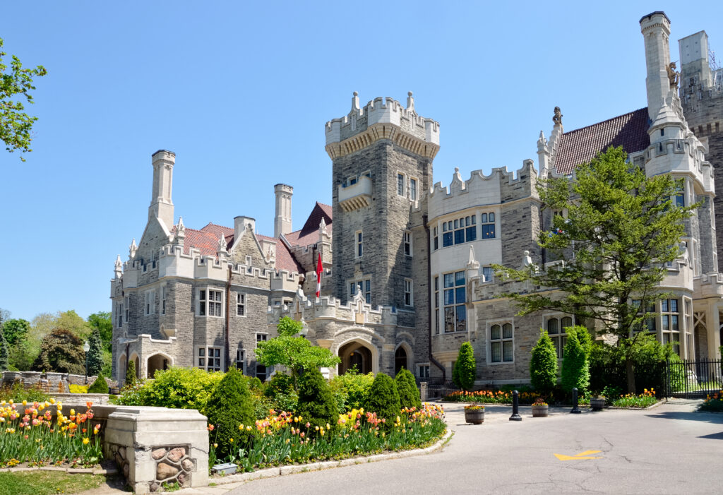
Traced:
[[665, 397], [704, 399], [723, 389], [720, 359], [666, 364]]

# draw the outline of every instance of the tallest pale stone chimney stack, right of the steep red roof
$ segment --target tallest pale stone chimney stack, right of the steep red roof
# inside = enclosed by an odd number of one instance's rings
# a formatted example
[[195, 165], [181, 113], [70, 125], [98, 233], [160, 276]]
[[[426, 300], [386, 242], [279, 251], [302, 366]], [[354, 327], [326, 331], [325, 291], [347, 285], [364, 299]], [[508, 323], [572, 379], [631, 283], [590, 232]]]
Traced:
[[645, 39], [645, 60], [648, 77], [648, 116], [654, 121], [670, 91], [668, 64], [670, 64], [670, 20], [665, 12], [656, 11], [640, 20]]

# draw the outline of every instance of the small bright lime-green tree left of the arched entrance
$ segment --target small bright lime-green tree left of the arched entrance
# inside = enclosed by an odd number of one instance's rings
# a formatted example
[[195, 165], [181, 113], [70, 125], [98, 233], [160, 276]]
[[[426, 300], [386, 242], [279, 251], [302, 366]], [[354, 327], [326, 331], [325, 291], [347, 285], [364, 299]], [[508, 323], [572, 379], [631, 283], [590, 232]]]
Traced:
[[341, 362], [330, 350], [312, 345], [304, 337], [295, 337], [301, 332], [301, 322], [283, 317], [276, 328], [278, 337], [258, 344], [256, 361], [264, 366], [286, 366], [294, 379], [294, 388], [298, 387], [296, 382], [301, 371], [336, 366]]

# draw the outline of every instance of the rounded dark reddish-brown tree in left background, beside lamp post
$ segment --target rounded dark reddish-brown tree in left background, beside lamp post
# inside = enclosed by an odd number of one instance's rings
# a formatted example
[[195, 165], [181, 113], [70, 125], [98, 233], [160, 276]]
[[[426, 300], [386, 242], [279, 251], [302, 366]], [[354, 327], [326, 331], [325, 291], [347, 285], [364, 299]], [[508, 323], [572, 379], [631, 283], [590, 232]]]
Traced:
[[43, 338], [40, 354], [33, 362], [33, 371], [84, 374], [83, 341], [73, 332], [57, 328]]

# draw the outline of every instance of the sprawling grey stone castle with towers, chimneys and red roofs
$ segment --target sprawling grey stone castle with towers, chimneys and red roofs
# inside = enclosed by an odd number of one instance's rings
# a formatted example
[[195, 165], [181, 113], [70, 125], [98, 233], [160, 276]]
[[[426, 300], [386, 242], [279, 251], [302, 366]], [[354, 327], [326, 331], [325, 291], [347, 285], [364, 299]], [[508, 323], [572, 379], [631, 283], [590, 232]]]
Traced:
[[563, 329], [573, 317], [515, 316], [512, 302], [497, 296], [533, 288], [495, 280], [491, 265], [560, 262], [535, 242], [552, 223], [536, 185], [618, 145], [649, 176], [684, 178], [677, 204], [702, 202], [662, 283], [675, 296], [657, 303], [651, 330], [683, 358], [713, 357], [723, 302], [716, 248], [723, 234], [715, 227], [723, 194], [714, 180], [723, 174], [723, 72], [709, 66], [706, 33], [680, 40], [678, 74], [667, 16], [654, 12], [640, 24], [648, 106], [570, 132], [555, 108], [549, 139], [541, 132], [536, 143], [537, 165], [524, 160], [513, 172], [472, 171], [463, 179], [455, 169], [449, 186], [435, 183], [440, 125], [417, 113], [412, 93], [406, 106], [391, 98], [361, 106], [354, 92], [351, 111], [325, 126], [332, 205], [317, 203], [300, 231], [291, 231], [293, 188], [286, 184], [274, 186], [273, 237], [244, 216], [232, 228], [187, 228], [175, 221], [171, 200], [176, 157], [155, 152], [145, 231], [128, 259], [116, 260], [111, 281], [114, 378], [134, 361], [142, 377], [171, 365], [238, 366], [265, 379], [271, 370], [256, 363], [254, 348], [289, 316], [341, 357], [332, 375], [352, 366], [393, 375], [404, 366], [420, 379], [450, 378], [469, 341], [481, 383], [525, 382], [539, 329], [562, 358]]

